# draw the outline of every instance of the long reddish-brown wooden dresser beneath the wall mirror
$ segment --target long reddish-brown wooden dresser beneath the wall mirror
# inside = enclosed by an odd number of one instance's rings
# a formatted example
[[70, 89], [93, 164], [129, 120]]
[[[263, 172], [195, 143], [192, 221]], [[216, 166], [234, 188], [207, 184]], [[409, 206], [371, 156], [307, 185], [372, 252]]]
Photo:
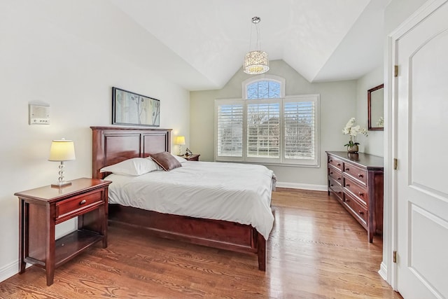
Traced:
[[367, 230], [369, 242], [383, 230], [383, 158], [366, 153], [328, 151], [328, 195]]

